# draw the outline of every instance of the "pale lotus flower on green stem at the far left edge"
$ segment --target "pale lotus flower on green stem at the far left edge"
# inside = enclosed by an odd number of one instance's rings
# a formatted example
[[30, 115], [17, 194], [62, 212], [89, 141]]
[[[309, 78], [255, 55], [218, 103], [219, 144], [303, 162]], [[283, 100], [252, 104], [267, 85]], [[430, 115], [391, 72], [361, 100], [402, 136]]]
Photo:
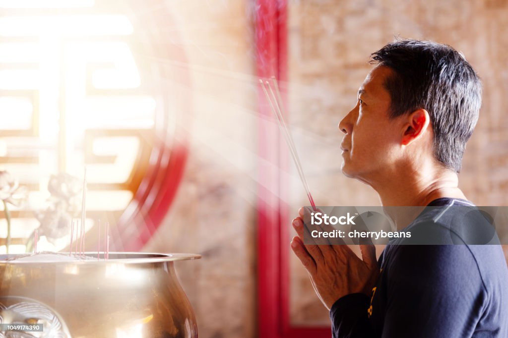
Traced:
[[9, 253], [9, 246], [11, 245], [11, 214], [8, 205], [20, 207], [26, 200], [27, 195], [26, 187], [20, 186], [9, 172], [0, 171], [0, 199], [4, 204], [4, 213], [7, 220], [7, 253]]

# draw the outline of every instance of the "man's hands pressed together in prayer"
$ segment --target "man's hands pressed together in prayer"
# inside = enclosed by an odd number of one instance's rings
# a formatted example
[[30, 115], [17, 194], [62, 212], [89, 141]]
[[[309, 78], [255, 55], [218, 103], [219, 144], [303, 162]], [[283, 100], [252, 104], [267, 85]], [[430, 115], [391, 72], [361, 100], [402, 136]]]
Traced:
[[[303, 238], [308, 229], [304, 220], [310, 224], [310, 211], [300, 208], [298, 213], [300, 216], [293, 220], [298, 236], [293, 238], [291, 248], [307, 269], [312, 286], [325, 307], [330, 310], [335, 301], [350, 293], [365, 293], [370, 297], [379, 276], [374, 245], [360, 245], [362, 259], [347, 245], [330, 245], [326, 238], [305, 245]], [[333, 228], [324, 225], [323, 230], [332, 231]], [[308, 233], [306, 237], [311, 238]]]

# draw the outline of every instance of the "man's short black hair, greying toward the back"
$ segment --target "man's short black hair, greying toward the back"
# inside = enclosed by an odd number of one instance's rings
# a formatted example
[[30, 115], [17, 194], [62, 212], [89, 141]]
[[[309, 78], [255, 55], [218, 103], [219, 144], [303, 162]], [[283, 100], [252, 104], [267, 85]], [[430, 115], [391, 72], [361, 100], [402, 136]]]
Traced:
[[448, 45], [419, 40], [394, 41], [370, 62], [394, 71], [385, 82], [391, 117], [427, 110], [436, 159], [459, 173], [482, 105], [482, 83], [469, 62]]

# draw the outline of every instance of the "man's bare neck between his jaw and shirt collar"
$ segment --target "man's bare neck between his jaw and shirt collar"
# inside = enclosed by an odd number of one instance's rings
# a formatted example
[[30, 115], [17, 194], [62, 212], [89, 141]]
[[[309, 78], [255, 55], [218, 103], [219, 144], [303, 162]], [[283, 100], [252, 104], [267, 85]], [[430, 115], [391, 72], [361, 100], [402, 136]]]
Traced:
[[385, 212], [400, 230], [411, 223], [424, 207], [437, 198], [466, 199], [458, 183], [457, 174], [451, 171], [414, 171], [411, 175], [385, 177], [384, 182], [372, 187], [379, 194]]

